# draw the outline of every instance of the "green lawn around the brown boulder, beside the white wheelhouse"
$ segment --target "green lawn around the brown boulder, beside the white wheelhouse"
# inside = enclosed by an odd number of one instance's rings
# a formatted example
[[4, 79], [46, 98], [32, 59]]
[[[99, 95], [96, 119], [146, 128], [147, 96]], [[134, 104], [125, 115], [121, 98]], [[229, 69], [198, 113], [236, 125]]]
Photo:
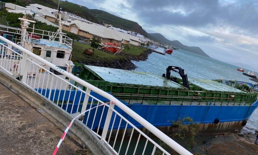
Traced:
[[73, 42], [72, 43], [72, 61], [78, 61], [78, 60], [105, 60], [105, 61], [109, 61], [109, 60], [114, 60], [114, 59], [118, 59], [121, 58], [122, 56], [120, 55], [113, 55], [110, 54], [108, 52], [104, 52], [102, 50], [97, 50], [94, 49], [94, 55], [92, 56], [85, 56], [83, 53], [83, 51], [86, 48], [92, 48], [90, 47], [89, 44], [85, 44], [83, 42]]

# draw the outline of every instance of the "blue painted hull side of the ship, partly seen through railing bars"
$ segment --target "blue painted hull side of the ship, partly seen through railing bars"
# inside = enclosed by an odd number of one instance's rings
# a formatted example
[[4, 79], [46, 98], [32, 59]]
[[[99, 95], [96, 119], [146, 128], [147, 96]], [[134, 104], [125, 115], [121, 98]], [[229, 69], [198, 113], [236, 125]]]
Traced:
[[[39, 90], [41, 92], [41, 90]], [[67, 90], [65, 93], [64, 100], [68, 100], [69, 97], [69, 91]], [[42, 90], [42, 94], [45, 94], [45, 90]], [[49, 90], [46, 92], [46, 97], [48, 97]], [[58, 99], [59, 90], [56, 91], [56, 95], [54, 97], [54, 91], [51, 92], [50, 100], [57, 100]], [[60, 99], [63, 99], [64, 90], [61, 90], [60, 93]], [[102, 100], [103, 102], [108, 102], [107, 99], [103, 98], [102, 96], [99, 96], [95, 92], [90, 92], [91, 95], [97, 97], [98, 99]], [[77, 91], [77, 95], [75, 96], [75, 91], [71, 91], [70, 95], [70, 101], [72, 102], [75, 100], [75, 103], [79, 103], [80, 95], [81, 93]], [[84, 95], [81, 96], [81, 102], [83, 102]], [[90, 97], [89, 101], [91, 101], [92, 98]], [[228, 122], [239, 122], [238, 125], [234, 125], [232, 127], [228, 126], [229, 131], [234, 130], [241, 130], [242, 129], [242, 121], [247, 120], [251, 114], [254, 112], [254, 110], [258, 106], [258, 100], [251, 104], [251, 105], [146, 105], [146, 104], [127, 104], [123, 102], [126, 106], [128, 106], [130, 109], [132, 109], [134, 112], [138, 113], [141, 117], [146, 119], [148, 122], [150, 122], [152, 125], [162, 128], [162, 127], [168, 127], [171, 126], [171, 122], [173, 120], [177, 120], [179, 117], [190, 117], [193, 119], [195, 123], [200, 124], [211, 124], [214, 125], [214, 120], [217, 118], [219, 119], [220, 123], [224, 123], [224, 125], [228, 125], [226, 123]], [[94, 107], [96, 104], [93, 104], [92, 107]], [[60, 105], [59, 105], [60, 106]], [[76, 113], [78, 104], [74, 104], [72, 108], [72, 104], [63, 104], [63, 109], [66, 110], [68, 113]], [[82, 105], [79, 105], [79, 111], [81, 111]], [[98, 123], [100, 121], [100, 116], [103, 111], [103, 107], [98, 107], [97, 112], [96, 109], [92, 109], [90, 111], [89, 119], [87, 122], [88, 127], [92, 127], [93, 118], [96, 112], [95, 121], [93, 124], [93, 129], [98, 127]], [[87, 109], [90, 108], [90, 104], [87, 105]], [[108, 108], [106, 107], [104, 109], [103, 116], [107, 114]], [[120, 110], [118, 107], [115, 106], [115, 110], [118, 111], [120, 114], [122, 114], [126, 119], [128, 119], [130, 122], [132, 122], [135, 126], [138, 128], [142, 128], [138, 122], [133, 120], [131, 117], [129, 117], [126, 113], [124, 113], [122, 110]], [[88, 112], [85, 113], [84, 123], [86, 123]], [[113, 122], [114, 113], [112, 115], [111, 121]], [[101, 120], [101, 128], [103, 128], [105, 122], [105, 117]], [[113, 129], [117, 129], [120, 122], [120, 118], [116, 118]], [[126, 123], [121, 122], [120, 129], [125, 128]], [[110, 129], [112, 127], [112, 123], [110, 125]], [[131, 126], [128, 126], [130, 128]], [[220, 127], [221, 128], [221, 127]], [[225, 130], [225, 127], [222, 127]], [[225, 131], [228, 131], [227, 129]]]

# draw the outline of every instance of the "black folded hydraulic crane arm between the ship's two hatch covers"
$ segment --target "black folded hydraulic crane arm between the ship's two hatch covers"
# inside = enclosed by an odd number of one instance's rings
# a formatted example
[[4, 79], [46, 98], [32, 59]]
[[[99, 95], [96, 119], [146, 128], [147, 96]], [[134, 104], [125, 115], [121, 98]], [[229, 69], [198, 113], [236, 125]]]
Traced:
[[[177, 69], [178, 71], [175, 69]], [[187, 74], [185, 74], [185, 72], [184, 72], [184, 69], [182, 69], [181, 67], [176, 67], [176, 66], [168, 66], [165, 78], [167, 78], [169, 80], [171, 79], [170, 78], [171, 70], [179, 73], [179, 75], [181, 76], [181, 78], [183, 80], [183, 86], [185, 86], [186, 88], [189, 89], [189, 82], [188, 82]]]

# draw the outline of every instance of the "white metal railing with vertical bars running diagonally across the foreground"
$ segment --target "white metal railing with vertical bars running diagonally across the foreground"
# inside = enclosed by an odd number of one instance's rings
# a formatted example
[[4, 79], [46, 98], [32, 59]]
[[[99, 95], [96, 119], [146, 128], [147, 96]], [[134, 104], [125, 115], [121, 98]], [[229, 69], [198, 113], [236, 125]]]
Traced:
[[[58, 66], [51, 64], [2, 36], [0, 36], [0, 40], [8, 44], [7, 46], [2, 43], [0, 44], [1, 52], [6, 51], [6, 53], [10, 53], [11, 51], [12, 55], [15, 55], [13, 57], [2, 56], [0, 59], [0, 69], [4, 69], [10, 74], [20, 73], [22, 76], [21, 81], [24, 84], [47, 97], [53, 104], [59, 105], [68, 113], [83, 112], [86, 109], [103, 104], [104, 101], [113, 101], [114, 104], [105, 104], [104, 106], [97, 107], [85, 113], [82, 120], [113, 153], [170, 154], [166, 148], [164, 149], [160, 146], [161, 140], [163, 143], [162, 146], [166, 144], [169, 150], [172, 148], [179, 154], [191, 154], [125, 104], [117, 100], [114, 96], [60, 69]], [[12, 50], [12, 48], [22, 51], [23, 55]], [[18, 58], [21, 59], [21, 62]], [[39, 61], [40, 64], [33, 62], [31, 60], [32, 58]], [[10, 66], [14, 66], [14, 64], [18, 62], [20, 63], [20, 67], [17, 71], [16, 68], [13, 70], [14, 67], [12, 69], [10, 68]], [[42, 64], [44, 64], [44, 66], [42, 66]], [[61, 75], [50, 72], [50, 68], [61, 73]], [[70, 83], [67, 78], [85, 86], [87, 90], [83, 91]], [[155, 138], [147, 136], [132, 122], [146, 128]], [[134, 138], [137, 139], [136, 144], [132, 143], [132, 139]]]

